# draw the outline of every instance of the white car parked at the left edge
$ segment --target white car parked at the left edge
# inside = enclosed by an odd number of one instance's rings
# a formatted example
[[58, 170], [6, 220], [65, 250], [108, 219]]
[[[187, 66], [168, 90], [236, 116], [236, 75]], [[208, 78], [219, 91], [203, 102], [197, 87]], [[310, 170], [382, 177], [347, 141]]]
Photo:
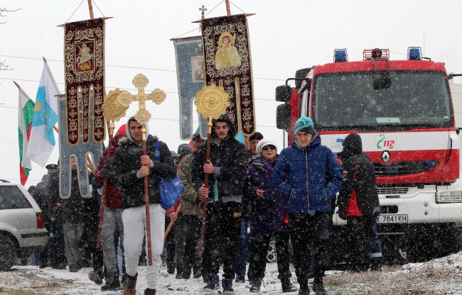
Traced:
[[0, 271], [16, 264], [17, 257], [45, 247], [48, 230], [31, 194], [21, 186], [0, 179]]

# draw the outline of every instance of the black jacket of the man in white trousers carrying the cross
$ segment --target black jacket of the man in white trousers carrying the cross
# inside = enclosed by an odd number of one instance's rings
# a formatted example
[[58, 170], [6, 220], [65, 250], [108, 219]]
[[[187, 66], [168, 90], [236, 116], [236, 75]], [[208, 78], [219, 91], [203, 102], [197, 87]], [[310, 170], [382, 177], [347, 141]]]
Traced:
[[[161, 162], [156, 160], [157, 140], [158, 138], [152, 135], [146, 139], [146, 155], [149, 155], [154, 162], [154, 167], [149, 169], [148, 175], [149, 204], [161, 203], [156, 175], [165, 179], [176, 177], [173, 157], [166, 143], [161, 142], [159, 145]], [[122, 208], [144, 205], [144, 177], [136, 177], [136, 172], [141, 168], [141, 155], [143, 155], [143, 147], [128, 138], [124, 138], [121, 145], [114, 151], [112, 179], [116, 187], [122, 189]]]

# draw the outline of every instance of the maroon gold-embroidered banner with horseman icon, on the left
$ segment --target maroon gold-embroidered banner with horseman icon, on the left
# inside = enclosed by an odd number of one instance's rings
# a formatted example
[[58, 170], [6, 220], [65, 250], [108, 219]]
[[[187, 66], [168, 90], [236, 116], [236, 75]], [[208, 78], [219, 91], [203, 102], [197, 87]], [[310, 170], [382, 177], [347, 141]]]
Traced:
[[84, 144], [90, 140], [102, 143], [104, 18], [66, 23], [64, 57], [68, 143], [77, 145], [79, 138], [82, 138]]

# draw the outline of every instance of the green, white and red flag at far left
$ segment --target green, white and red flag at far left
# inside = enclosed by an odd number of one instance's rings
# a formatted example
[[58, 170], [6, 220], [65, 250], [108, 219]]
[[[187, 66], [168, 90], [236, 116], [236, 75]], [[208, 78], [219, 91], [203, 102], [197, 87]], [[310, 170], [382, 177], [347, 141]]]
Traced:
[[[16, 84], [16, 82], [14, 82]], [[18, 84], [19, 89], [19, 105], [18, 105], [18, 141], [19, 141], [19, 174], [21, 176], [21, 184], [26, 184], [31, 171], [31, 160], [27, 157], [27, 147], [29, 136], [32, 129], [33, 108], [36, 106], [33, 100], [23, 91]]]

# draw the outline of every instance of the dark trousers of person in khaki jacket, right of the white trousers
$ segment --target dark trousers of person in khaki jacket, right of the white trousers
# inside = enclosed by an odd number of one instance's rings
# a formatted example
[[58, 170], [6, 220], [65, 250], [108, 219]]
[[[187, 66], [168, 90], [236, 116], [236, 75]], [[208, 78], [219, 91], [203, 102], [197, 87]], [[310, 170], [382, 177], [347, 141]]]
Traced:
[[183, 274], [190, 275], [200, 269], [200, 260], [196, 260], [195, 250], [200, 239], [200, 216], [178, 214], [176, 220], [176, 267]]

